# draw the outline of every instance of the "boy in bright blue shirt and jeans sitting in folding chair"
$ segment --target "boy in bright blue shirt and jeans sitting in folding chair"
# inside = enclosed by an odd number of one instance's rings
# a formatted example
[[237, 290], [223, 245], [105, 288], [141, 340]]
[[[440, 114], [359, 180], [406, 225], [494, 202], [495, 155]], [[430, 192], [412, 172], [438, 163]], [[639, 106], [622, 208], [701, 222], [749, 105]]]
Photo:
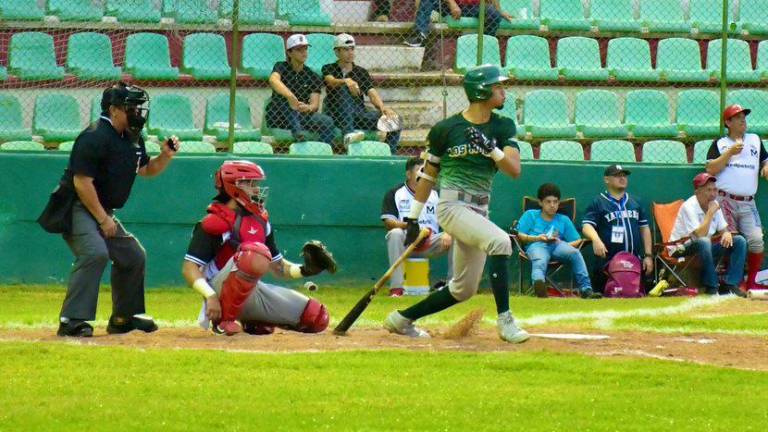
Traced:
[[518, 224], [518, 237], [525, 244], [525, 253], [531, 260], [531, 283], [538, 297], [547, 297], [545, 275], [550, 259], [571, 264], [571, 269], [585, 299], [602, 296], [592, 291], [587, 265], [578, 246], [582, 239], [573, 222], [557, 213], [560, 206], [560, 188], [552, 183], [539, 186], [537, 192], [541, 210], [523, 213]]

